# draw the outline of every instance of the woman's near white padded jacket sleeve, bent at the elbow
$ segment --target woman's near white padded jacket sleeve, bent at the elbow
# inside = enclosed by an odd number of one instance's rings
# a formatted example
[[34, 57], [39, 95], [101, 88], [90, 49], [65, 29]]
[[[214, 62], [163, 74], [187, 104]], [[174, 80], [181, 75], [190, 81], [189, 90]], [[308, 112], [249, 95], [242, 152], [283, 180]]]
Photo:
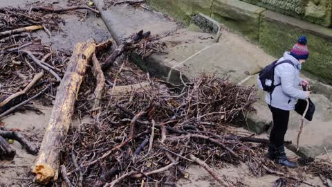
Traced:
[[295, 68], [291, 64], [283, 64], [284, 68], [280, 71], [280, 79], [282, 82], [282, 91], [287, 96], [297, 99], [306, 99], [306, 92], [294, 86], [295, 82]]

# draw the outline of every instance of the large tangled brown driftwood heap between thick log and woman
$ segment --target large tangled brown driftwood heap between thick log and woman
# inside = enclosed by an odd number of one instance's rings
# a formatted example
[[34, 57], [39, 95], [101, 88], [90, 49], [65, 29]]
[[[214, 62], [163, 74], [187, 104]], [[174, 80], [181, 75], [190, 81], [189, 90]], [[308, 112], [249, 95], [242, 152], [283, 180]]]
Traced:
[[[124, 66], [129, 64], [112, 68], [118, 75], [113, 82], [131, 80], [133, 73], [122, 72]], [[241, 162], [256, 177], [279, 175], [276, 184], [307, 184], [303, 171], [331, 179], [329, 163], [305, 163], [291, 173], [266, 158], [268, 140], [230, 128], [230, 122], [243, 123], [251, 110], [252, 87], [234, 85], [226, 76], [202, 75], [182, 85], [142, 76], [144, 81], [109, 89], [99, 113], [70, 130], [62, 146], [60, 181], [67, 186], [174, 186], [196, 163], [221, 186], [246, 186], [212, 169]]]

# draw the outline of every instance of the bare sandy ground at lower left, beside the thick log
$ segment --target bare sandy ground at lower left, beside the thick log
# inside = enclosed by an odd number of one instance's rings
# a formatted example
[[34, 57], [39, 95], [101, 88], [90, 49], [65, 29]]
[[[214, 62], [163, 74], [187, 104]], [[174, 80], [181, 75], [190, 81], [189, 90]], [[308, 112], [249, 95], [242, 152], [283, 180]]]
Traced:
[[[51, 107], [37, 106], [37, 108], [43, 112], [39, 115], [35, 112], [15, 113], [8, 118], [3, 119], [3, 123], [6, 128], [19, 129], [23, 132], [30, 141], [39, 145], [44, 136], [44, 128], [50, 118], [52, 111]], [[35, 157], [28, 154], [26, 150], [21, 148], [21, 145], [15, 141], [12, 144], [17, 152], [17, 156], [12, 161], [0, 162], [0, 186], [20, 186], [30, 181], [28, 174], [30, 172], [30, 166], [33, 165]]]

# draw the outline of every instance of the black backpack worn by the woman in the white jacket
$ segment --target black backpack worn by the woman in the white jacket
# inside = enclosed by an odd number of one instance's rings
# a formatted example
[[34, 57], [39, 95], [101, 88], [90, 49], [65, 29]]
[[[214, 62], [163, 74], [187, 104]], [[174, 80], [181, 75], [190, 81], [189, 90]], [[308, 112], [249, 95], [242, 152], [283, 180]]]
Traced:
[[294, 66], [293, 62], [291, 60], [284, 60], [282, 62], [277, 63], [277, 61], [272, 62], [272, 64], [269, 64], [268, 66], [264, 67], [264, 69], [261, 70], [258, 76], [258, 84], [261, 89], [264, 91], [269, 92], [272, 94], [275, 87], [281, 85], [277, 84], [275, 85], [275, 67], [280, 64], [288, 63]]

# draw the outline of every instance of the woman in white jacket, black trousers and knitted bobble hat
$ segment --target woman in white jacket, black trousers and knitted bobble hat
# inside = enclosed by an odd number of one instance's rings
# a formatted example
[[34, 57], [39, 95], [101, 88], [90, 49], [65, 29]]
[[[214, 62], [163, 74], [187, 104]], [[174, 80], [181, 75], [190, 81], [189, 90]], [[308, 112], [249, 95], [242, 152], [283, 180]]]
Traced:
[[291, 52], [285, 52], [277, 63], [288, 60], [290, 63], [283, 63], [275, 66], [275, 87], [273, 93], [266, 94], [266, 103], [273, 115], [273, 128], [270, 132], [270, 145], [268, 157], [284, 166], [295, 167], [296, 163], [289, 161], [284, 150], [284, 137], [288, 127], [289, 112], [295, 108], [295, 100], [306, 99], [309, 91], [302, 91], [299, 85], [308, 85], [308, 81], [299, 78], [301, 64], [308, 59], [309, 51], [306, 46], [305, 36], [299, 37], [298, 42], [293, 46]]

